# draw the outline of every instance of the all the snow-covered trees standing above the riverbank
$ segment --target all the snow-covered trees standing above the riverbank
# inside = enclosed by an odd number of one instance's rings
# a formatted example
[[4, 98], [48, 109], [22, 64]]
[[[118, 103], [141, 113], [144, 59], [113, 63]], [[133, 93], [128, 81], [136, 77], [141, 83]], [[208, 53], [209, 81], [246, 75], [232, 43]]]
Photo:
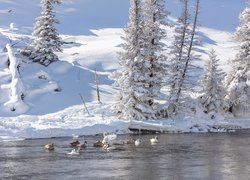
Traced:
[[[239, 51], [231, 62], [232, 70], [225, 74], [219, 68], [219, 59], [211, 49], [205, 64], [205, 75], [196, 92], [197, 61], [202, 59], [194, 52], [200, 45], [197, 25], [200, 0], [195, 1], [191, 16], [189, 0], [180, 0], [182, 12], [174, 25], [171, 46], [166, 27], [168, 11], [165, 0], [130, 0], [129, 22], [121, 37], [124, 41], [118, 52], [120, 68], [111, 79], [119, 92], [112, 109], [124, 119], [162, 119], [196, 113], [215, 118], [218, 113], [234, 113], [241, 107], [250, 107], [250, 8], [240, 15], [241, 24], [235, 38]], [[55, 28], [53, 5], [60, 0], [41, 0], [41, 15], [36, 19], [32, 43], [22, 50], [33, 62], [48, 66], [57, 61], [56, 52], [63, 44]], [[167, 52], [167, 53], [166, 53]], [[164, 89], [164, 93], [163, 93]], [[192, 94], [199, 94], [193, 97]]]

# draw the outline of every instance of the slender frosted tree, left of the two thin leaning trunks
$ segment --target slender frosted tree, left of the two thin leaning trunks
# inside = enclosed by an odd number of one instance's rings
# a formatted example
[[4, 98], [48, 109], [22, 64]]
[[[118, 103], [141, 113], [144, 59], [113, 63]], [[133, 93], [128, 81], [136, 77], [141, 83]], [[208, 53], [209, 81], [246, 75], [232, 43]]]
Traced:
[[180, 0], [182, 3], [182, 14], [178, 18], [178, 25], [175, 27], [174, 42], [172, 45], [172, 58], [169, 63], [169, 110], [171, 115], [175, 113], [179, 106], [178, 89], [180, 89], [180, 82], [186, 62], [188, 44], [190, 42], [190, 15], [188, 12], [188, 0]]

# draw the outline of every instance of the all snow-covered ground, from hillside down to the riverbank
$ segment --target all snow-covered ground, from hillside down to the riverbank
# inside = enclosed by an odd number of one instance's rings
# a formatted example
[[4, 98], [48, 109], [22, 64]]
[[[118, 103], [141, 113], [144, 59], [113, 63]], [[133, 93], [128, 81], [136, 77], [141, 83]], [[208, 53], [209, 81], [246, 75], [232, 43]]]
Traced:
[[[13, 71], [7, 68], [8, 54], [4, 48], [7, 43], [17, 42], [13, 46], [15, 53], [18, 47], [28, 43], [34, 20], [40, 12], [39, 2], [0, 0], [0, 140], [127, 132], [130, 122], [119, 120], [110, 112], [116, 89], [108, 76], [119, 68], [116, 52], [122, 43], [122, 28], [128, 20], [128, 0], [63, 1], [57, 8], [61, 21], [58, 29], [68, 43], [63, 46], [63, 53], [58, 54], [60, 62], [46, 68], [17, 57], [16, 60], [21, 62], [19, 71], [25, 89], [24, 104], [16, 111], [6, 106], [11, 100], [11, 86], [8, 85]], [[202, 47], [197, 53], [204, 60], [206, 51], [214, 48], [224, 71], [230, 69], [228, 60], [237, 52], [232, 33], [239, 24], [238, 15], [244, 6], [244, 0], [204, 0], [201, 4], [199, 35]], [[166, 7], [171, 12], [170, 19], [176, 19], [181, 9], [179, 1], [168, 0]], [[167, 28], [167, 31], [166, 44], [169, 44], [173, 39], [173, 29]], [[97, 102], [95, 69], [99, 76], [102, 104]], [[187, 132], [196, 131], [195, 128], [190, 129], [196, 124], [207, 126], [219, 122], [250, 127], [247, 120], [216, 119], [207, 122], [206, 117], [148, 123], [159, 126], [159, 129], [172, 127]]]

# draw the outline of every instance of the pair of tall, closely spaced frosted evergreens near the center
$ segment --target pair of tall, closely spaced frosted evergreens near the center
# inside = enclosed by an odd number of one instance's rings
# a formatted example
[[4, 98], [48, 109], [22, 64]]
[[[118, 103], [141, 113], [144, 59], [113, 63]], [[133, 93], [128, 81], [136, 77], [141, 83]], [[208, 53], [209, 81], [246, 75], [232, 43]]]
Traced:
[[[159, 2], [152, 0], [150, 5], [154, 6], [143, 6], [142, 11], [141, 1], [131, 0], [130, 21], [123, 37], [123, 52], [120, 53], [121, 70], [111, 77], [121, 89], [113, 107], [125, 119], [157, 118], [154, 100], [161, 88], [163, 66], [160, 67], [160, 61], [164, 60], [160, 42], [164, 32], [159, 26], [165, 17], [163, 4], [160, 6]], [[151, 11], [145, 11], [145, 7]]]

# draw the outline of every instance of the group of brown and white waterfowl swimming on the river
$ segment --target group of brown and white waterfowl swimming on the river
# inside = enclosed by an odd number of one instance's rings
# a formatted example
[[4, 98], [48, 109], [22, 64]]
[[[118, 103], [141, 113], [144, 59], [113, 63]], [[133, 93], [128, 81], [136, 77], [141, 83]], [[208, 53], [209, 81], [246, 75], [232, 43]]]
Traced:
[[[125, 144], [131, 144], [135, 146], [140, 146], [142, 143], [142, 139], [128, 139], [124, 141], [115, 141], [117, 138], [116, 134], [103, 134], [103, 140], [96, 141], [93, 144], [93, 147], [103, 148], [104, 150], [110, 151], [110, 150], [122, 150], [121, 145]], [[154, 138], [149, 139], [151, 145], [156, 145], [159, 142], [158, 136], [155, 136]], [[119, 145], [119, 146], [115, 146]], [[70, 143], [70, 146], [73, 148], [71, 152], [68, 152], [68, 155], [80, 155], [81, 151], [86, 149], [87, 147], [87, 141], [84, 141], [84, 143], [81, 143], [79, 140], [75, 140]], [[46, 144], [44, 146], [44, 149], [48, 152], [54, 151], [55, 146], [54, 143]]]

